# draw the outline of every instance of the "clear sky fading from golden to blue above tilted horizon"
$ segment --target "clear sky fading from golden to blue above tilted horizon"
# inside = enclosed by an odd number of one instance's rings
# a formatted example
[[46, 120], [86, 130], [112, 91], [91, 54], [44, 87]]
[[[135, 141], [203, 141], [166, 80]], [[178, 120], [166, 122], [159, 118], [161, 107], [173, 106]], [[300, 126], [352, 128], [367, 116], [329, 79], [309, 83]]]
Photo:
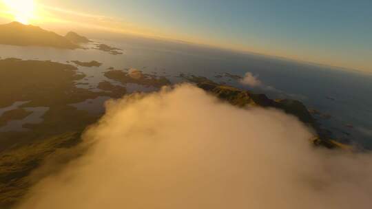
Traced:
[[[30, 23], [47, 28], [79, 25], [372, 72], [371, 0], [34, 0], [34, 5]], [[14, 19], [5, 5], [0, 11], [0, 21]]]

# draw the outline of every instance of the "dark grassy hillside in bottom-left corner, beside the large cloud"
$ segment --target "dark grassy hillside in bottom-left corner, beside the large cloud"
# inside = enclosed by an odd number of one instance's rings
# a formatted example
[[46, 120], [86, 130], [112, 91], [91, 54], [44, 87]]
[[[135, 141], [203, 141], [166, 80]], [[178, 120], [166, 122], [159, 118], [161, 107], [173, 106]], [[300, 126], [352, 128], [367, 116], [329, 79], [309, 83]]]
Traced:
[[[61, 135], [41, 138], [37, 142], [13, 148], [0, 153], [0, 208], [10, 208], [19, 201], [28, 188], [40, 177], [55, 170], [44, 170], [32, 175], [32, 170], [43, 163], [45, 159], [56, 159], [59, 164], [65, 164], [71, 157], [71, 151], [65, 149], [76, 146], [80, 142], [79, 132], [67, 132]], [[69, 155], [63, 156], [69, 152]], [[61, 157], [63, 156], [63, 157]]]

